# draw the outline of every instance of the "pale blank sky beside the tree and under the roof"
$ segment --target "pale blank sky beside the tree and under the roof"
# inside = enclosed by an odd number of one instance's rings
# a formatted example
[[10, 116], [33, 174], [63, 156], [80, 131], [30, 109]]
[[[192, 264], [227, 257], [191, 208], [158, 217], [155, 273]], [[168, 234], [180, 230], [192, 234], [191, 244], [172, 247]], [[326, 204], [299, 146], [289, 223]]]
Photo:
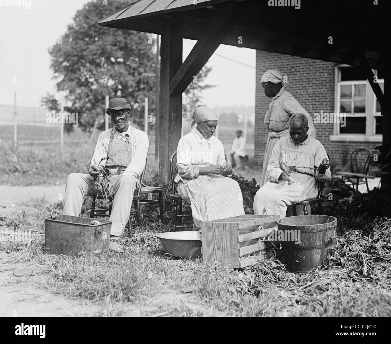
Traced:
[[[0, 5], [0, 105], [13, 105], [16, 92], [18, 106], [38, 107], [41, 97], [54, 93], [48, 49], [86, 2], [22, 0], [20, 7]], [[183, 59], [194, 44], [184, 40]], [[216, 87], [204, 91], [204, 104], [255, 105], [255, 50], [220, 45], [207, 65], [212, 72], [206, 83]]]

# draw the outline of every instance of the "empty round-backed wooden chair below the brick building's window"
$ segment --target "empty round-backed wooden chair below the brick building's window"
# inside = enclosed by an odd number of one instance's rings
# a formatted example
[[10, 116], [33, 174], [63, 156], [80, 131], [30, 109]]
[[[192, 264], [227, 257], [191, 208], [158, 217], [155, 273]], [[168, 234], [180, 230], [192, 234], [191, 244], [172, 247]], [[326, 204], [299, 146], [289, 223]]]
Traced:
[[[350, 154], [350, 171], [340, 172], [342, 180], [352, 185], [353, 189], [356, 186], [356, 190], [359, 191], [359, 184], [366, 184], [368, 187], [368, 178], [374, 179], [374, 176], [368, 175], [369, 165], [372, 160], [372, 151], [368, 148], [357, 148]], [[365, 180], [365, 181], [364, 181]]]

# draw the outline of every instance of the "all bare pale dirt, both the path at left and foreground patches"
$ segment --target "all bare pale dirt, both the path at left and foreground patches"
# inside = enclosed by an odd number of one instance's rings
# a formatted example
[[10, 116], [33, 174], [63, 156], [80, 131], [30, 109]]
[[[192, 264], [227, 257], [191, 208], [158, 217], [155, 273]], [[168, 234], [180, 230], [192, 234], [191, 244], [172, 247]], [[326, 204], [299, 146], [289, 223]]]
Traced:
[[[378, 180], [369, 180], [369, 187], [378, 186]], [[366, 191], [362, 189], [362, 192]], [[9, 187], [0, 186], [0, 216], [10, 216], [23, 210], [20, 202], [31, 197], [45, 197], [48, 204], [59, 200], [59, 193], [64, 195], [65, 185], [59, 186], [30, 186]], [[181, 264], [181, 261], [172, 261], [172, 264]], [[14, 263], [11, 254], [0, 250], [0, 316], [105, 316], [107, 305], [89, 303], [81, 299], [70, 299], [63, 295], [52, 294], [45, 287], [45, 276], [40, 268], [26, 270], [24, 263]], [[146, 306], [145, 306], [146, 304]], [[168, 312], [158, 310], [167, 307], [183, 309], [185, 306], [190, 312], [203, 315], [221, 315], [213, 309], [205, 308], [204, 304], [197, 303], [192, 293], [182, 293], [167, 290], [166, 293], [156, 294], [144, 302], [139, 308], [132, 306], [126, 309], [127, 316], [164, 316]]]

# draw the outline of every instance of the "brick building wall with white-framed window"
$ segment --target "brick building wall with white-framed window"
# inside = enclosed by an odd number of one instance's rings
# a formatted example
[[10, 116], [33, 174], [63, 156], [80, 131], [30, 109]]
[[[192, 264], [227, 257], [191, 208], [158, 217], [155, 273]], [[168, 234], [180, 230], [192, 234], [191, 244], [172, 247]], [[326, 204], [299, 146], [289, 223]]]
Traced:
[[[344, 123], [314, 121], [317, 139], [325, 146], [332, 166], [348, 171], [350, 153], [355, 148], [365, 147], [378, 153], [375, 147], [382, 144], [380, 106], [360, 68], [257, 50], [254, 159], [258, 164], [263, 162], [268, 134], [264, 117], [271, 99], [265, 96], [260, 84], [268, 69], [287, 75], [287, 90], [313, 119], [319, 119], [321, 113], [346, 113]], [[382, 72], [374, 73], [383, 89]], [[371, 162], [370, 172], [378, 171], [377, 163]]]

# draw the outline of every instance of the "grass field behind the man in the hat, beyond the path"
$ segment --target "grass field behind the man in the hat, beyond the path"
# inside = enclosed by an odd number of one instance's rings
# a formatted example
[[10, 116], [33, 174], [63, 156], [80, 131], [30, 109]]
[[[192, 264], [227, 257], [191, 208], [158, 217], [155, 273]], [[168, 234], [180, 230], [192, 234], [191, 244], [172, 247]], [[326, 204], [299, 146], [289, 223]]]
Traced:
[[[90, 165], [98, 133], [93, 139], [79, 128], [64, 134], [64, 157], [61, 158], [58, 128], [50, 126], [18, 126], [20, 141], [52, 141], [39, 144], [19, 144], [13, 147], [13, 127], [0, 126], [0, 156], [3, 163], [0, 166], [0, 185], [30, 186], [64, 184], [70, 173], [87, 173]], [[222, 141], [226, 151], [231, 149], [235, 137], [232, 131], [221, 130], [225, 140]], [[224, 136], [225, 135], [225, 136]], [[233, 137], [231, 140], [231, 136]], [[247, 154], [253, 157], [253, 144], [247, 144]], [[154, 137], [150, 137], [146, 180], [158, 171], [158, 161], [154, 158]], [[259, 168], [254, 175], [258, 176]]]

